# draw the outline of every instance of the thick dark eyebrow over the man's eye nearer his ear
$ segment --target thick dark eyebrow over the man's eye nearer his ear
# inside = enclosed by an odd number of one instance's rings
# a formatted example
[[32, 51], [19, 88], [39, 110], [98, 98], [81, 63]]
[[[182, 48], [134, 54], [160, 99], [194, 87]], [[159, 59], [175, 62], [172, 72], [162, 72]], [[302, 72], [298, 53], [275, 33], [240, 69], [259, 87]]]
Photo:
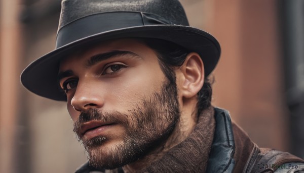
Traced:
[[140, 57], [138, 54], [131, 52], [131, 51], [124, 51], [124, 50], [113, 50], [106, 53], [100, 53], [92, 56], [90, 60], [88, 60], [87, 66], [91, 67], [96, 65], [97, 63], [110, 59], [112, 57], [116, 56], [124, 56], [124, 55], [130, 55], [132, 57]]

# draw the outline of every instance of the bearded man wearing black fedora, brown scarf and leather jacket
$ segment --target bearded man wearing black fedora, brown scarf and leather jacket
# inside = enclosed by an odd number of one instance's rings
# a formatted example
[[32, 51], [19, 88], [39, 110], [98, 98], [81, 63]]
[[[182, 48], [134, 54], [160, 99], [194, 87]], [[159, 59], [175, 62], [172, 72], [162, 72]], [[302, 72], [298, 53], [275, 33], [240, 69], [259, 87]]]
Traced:
[[211, 106], [220, 47], [177, 0], [65, 0], [56, 47], [21, 81], [67, 101], [89, 158], [77, 172], [304, 171]]

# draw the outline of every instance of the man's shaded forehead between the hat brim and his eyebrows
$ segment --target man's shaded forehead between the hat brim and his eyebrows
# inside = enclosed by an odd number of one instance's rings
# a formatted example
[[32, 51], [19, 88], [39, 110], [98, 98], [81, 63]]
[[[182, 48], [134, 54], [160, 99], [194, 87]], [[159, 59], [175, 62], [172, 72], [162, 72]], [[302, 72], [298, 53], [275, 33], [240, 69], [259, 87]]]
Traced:
[[69, 56], [65, 57], [60, 61], [60, 69], [64, 69], [65, 67], [72, 65], [74, 63], [78, 63], [81, 61], [89, 60], [90, 57], [100, 54], [106, 53], [113, 50], [125, 50], [134, 52], [139, 56], [154, 56], [156, 57], [155, 52], [149, 48], [142, 40], [139, 39], [116, 39], [116, 40], [108, 40], [102, 43], [96, 43], [94, 45], [85, 46], [80, 50], [75, 50]]

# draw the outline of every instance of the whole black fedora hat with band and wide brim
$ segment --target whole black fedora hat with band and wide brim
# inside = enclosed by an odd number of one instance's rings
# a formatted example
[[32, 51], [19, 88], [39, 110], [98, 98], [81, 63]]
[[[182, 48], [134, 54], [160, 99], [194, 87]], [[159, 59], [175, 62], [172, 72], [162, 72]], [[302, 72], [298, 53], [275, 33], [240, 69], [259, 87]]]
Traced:
[[32, 62], [21, 82], [37, 95], [65, 101], [57, 81], [63, 57], [86, 44], [130, 37], [163, 39], [199, 53], [205, 76], [220, 56], [212, 35], [189, 27], [178, 0], [63, 0], [56, 49]]

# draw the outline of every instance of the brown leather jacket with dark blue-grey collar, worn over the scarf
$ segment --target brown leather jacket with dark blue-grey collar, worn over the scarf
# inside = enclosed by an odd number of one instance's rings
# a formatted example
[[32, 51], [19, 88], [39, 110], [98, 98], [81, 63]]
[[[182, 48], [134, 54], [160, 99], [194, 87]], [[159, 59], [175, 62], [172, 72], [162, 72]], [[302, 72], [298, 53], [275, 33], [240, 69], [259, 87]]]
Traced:
[[[303, 159], [287, 152], [259, 148], [240, 127], [231, 122], [228, 111], [214, 108], [214, 118], [216, 127], [206, 172], [304, 172]], [[92, 171], [123, 172], [123, 169], [97, 169], [87, 162], [75, 173]]]

